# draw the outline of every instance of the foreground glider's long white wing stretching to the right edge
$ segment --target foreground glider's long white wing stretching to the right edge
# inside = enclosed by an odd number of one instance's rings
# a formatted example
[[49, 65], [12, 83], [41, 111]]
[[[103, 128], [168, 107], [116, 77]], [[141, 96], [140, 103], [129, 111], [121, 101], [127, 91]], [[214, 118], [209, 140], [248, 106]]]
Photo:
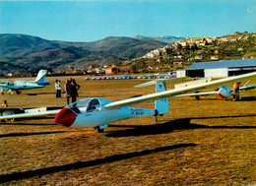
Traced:
[[138, 103], [145, 102], [145, 101], [156, 100], [156, 99], [160, 99], [163, 97], [178, 95], [180, 93], [187, 93], [187, 92], [191, 92], [191, 91], [195, 91], [195, 90], [221, 86], [224, 84], [239, 82], [239, 81], [243, 81], [243, 80], [247, 80], [247, 79], [252, 79], [255, 77], [256, 77], [256, 72], [248, 73], [248, 74], [244, 74], [244, 75], [240, 75], [240, 76], [228, 77], [228, 78], [211, 81], [211, 82], [207, 82], [207, 83], [200, 84], [200, 85], [194, 85], [194, 86], [191, 86], [188, 88], [184, 87], [184, 88], [169, 90], [169, 91], [165, 91], [165, 92], [161, 92], [161, 93], [151, 93], [151, 94], [142, 95], [139, 97], [118, 100], [118, 101], [106, 104], [105, 108], [111, 109], [111, 108], [117, 108], [117, 107], [126, 106], [126, 105], [138, 104]]

